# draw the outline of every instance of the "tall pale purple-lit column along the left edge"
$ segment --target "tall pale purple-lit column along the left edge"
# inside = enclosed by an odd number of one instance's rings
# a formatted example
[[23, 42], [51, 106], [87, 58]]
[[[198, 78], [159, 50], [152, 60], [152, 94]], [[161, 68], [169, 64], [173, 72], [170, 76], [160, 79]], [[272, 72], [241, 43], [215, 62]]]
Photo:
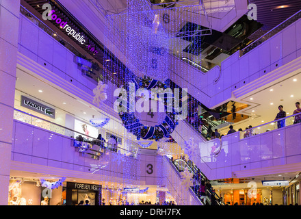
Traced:
[[8, 205], [20, 0], [0, 0], [0, 205]]

